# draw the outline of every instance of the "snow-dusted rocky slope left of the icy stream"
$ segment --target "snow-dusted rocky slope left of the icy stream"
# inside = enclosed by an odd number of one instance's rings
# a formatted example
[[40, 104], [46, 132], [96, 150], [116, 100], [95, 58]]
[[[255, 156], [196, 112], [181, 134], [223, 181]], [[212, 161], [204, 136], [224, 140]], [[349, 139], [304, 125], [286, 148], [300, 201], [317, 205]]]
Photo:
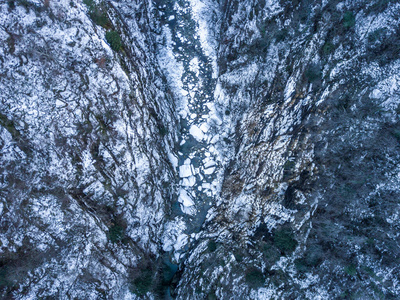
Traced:
[[[156, 268], [175, 105], [149, 4], [103, 5], [105, 28], [81, 1], [0, 6], [5, 298], [118, 299], [131, 295], [132, 273]], [[122, 19], [117, 5], [143, 16]], [[118, 32], [119, 51], [106, 32]]]

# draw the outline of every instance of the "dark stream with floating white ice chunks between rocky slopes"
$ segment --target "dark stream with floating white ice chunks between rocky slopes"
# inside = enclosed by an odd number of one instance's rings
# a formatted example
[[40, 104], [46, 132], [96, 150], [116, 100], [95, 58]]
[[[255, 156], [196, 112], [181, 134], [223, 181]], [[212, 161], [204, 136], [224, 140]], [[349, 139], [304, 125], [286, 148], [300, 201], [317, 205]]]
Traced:
[[170, 254], [164, 258], [166, 265], [183, 261], [216, 202], [221, 184], [216, 144], [222, 120], [214, 106], [217, 70], [215, 46], [210, 45], [206, 23], [208, 9], [198, 0], [163, 2], [159, 7], [165, 21], [160, 65], [178, 100], [181, 130], [175, 165], [180, 181], [173, 213], [184, 222], [174, 244], [165, 247]]

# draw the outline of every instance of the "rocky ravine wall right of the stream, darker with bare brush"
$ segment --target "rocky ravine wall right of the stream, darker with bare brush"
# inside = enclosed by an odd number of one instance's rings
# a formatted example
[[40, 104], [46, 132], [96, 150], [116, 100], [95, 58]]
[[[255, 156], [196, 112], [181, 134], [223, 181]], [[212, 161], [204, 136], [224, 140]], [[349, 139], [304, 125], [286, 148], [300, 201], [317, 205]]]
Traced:
[[396, 298], [398, 4], [224, 1], [220, 15], [223, 184], [179, 297]]

